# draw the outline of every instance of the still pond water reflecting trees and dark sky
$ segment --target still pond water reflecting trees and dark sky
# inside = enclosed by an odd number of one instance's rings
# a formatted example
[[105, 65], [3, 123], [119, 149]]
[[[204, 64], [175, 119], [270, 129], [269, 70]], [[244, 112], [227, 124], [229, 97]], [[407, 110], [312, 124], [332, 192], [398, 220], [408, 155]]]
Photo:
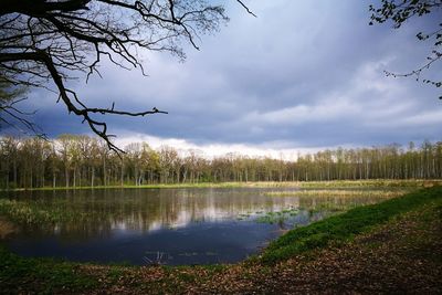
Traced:
[[269, 197], [293, 188], [101, 189], [15, 192], [57, 214], [6, 238], [24, 256], [146, 264], [233, 263], [284, 231], [377, 197]]

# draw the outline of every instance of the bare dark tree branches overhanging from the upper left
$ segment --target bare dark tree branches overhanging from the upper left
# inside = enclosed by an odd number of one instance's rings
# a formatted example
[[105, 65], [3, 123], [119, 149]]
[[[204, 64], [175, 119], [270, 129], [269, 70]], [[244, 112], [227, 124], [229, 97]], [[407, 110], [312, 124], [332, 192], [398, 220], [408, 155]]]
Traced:
[[[236, 0], [246, 11], [253, 14]], [[99, 115], [167, 114], [156, 107], [126, 112], [88, 107], [66, 81], [99, 74], [104, 59], [123, 69], [140, 69], [143, 51], [169, 52], [186, 59], [180, 44], [217, 31], [228, 21], [222, 6], [206, 0], [2, 0], [0, 6], [0, 73], [6, 82], [46, 87], [57, 93], [69, 113], [83, 118], [108, 148], [112, 141]]]

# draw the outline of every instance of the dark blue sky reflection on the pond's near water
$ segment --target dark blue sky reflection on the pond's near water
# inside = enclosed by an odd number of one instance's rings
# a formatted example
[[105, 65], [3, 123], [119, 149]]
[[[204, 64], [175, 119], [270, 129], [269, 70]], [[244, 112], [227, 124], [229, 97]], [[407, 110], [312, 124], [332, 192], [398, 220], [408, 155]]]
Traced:
[[192, 223], [180, 229], [161, 229], [148, 234], [115, 230], [106, 238], [87, 241], [60, 236], [20, 236], [9, 242], [25, 256], [57, 256], [81, 262], [155, 262], [170, 265], [233, 263], [256, 253], [281, 234], [277, 225], [252, 221]]

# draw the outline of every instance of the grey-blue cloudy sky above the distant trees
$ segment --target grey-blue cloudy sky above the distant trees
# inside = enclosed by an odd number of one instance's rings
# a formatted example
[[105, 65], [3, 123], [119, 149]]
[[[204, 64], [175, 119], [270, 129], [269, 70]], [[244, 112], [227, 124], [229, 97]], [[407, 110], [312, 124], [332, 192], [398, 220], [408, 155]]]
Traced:
[[[202, 35], [200, 51], [183, 44], [186, 62], [148, 53], [147, 77], [105, 62], [103, 78], [74, 84], [91, 106], [115, 102], [126, 110], [169, 112], [106, 116], [117, 145], [146, 140], [208, 155], [292, 157], [339, 146], [442, 139], [440, 89], [383, 73], [424, 64], [431, 43], [415, 34], [435, 28], [440, 11], [394, 30], [391, 23], [368, 25], [368, 7], [376, 0], [244, 1], [257, 18], [225, 2], [230, 22]], [[436, 64], [425, 75], [441, 70]], [[27, 107], [38, 109], [34, 123], [50, 137], [91, 134], [54, 94], [38, 91], [29, 98]]]

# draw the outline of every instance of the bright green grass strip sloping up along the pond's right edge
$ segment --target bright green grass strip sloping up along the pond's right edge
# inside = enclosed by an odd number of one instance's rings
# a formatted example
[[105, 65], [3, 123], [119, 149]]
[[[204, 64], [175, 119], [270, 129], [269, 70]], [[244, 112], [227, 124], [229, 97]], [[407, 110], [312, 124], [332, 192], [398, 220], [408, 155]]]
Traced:
[[345, 213], [287, 232], [272, 242], [257, 260], [274, 264], [311, 250], [340, 244], [428, 202], [442, 202], [441, 196], [442, 187], [434, 187], [381, 203], [351, 209]]

